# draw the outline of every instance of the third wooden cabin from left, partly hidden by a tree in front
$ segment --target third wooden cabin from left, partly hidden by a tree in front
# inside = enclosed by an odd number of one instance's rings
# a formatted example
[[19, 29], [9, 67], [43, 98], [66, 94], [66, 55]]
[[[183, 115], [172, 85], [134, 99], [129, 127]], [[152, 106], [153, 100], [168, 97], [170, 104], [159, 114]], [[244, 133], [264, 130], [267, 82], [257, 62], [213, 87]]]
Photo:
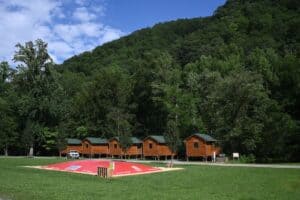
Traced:
[[114, 157], [125, 156], [141, 156], [142, 155], [142, 141], [136, 137], [131, 137], [132, 145], [124, 152], [121, 148], [119, 137], [113, 137], [109, 140], [109, 154]]

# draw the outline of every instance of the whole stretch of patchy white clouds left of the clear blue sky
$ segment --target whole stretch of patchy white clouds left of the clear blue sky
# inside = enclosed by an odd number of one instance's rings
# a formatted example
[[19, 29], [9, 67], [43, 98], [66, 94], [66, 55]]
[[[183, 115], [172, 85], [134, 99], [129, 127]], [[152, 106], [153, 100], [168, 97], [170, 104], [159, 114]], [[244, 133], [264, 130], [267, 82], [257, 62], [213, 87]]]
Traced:
[[77, 0], [70, 9], [62, 2], [0, 1], [0, 61], [11, 62], [15, 44], [38, 38], [48, 42], [50, 55], [56, 62], [62, 62], [124, 35], [121, 30], [99, 22], [104, 15], [103, 6], [84, 7], [86, 1]]

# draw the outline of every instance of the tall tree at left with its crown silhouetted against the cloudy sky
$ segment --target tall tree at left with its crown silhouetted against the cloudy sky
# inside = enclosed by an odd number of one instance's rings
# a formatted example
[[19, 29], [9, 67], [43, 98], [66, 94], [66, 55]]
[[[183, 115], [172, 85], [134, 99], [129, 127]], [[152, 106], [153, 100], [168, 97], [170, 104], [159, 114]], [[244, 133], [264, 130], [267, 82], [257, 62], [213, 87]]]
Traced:
[[23, 137], [29, 145], [29, 155], [33, 156], [34, 143], [42, 141], [42, 127], [51, 120], [49, 113], [51, 93], [51, 66], [53, 65], [47, 51], [47, 44], [38, 39], [35, 42], [26, 42], [25, 45], [17, 44], [14, 61], [20, 62], [17, 75], [19, 91], [23, 92], [22, 98], [26, 107], [23, 116], [26, 127]]

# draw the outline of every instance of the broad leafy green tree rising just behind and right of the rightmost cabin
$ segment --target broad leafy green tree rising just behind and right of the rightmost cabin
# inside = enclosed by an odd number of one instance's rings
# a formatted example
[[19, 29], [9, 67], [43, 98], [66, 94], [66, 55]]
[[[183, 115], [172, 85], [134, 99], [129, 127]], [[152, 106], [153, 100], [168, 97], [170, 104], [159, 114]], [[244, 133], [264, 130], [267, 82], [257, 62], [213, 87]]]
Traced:
[[220, 81], [208, 105], [225, 150], [256, 152], [270, 101], [262, 78], [255, 73], [238, 71]]

